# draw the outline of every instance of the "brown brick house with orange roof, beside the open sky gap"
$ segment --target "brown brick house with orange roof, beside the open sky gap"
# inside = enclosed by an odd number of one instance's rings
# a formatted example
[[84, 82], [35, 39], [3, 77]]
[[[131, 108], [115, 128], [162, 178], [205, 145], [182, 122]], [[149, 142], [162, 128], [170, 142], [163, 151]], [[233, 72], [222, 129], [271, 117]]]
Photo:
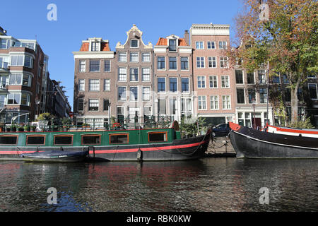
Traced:
[[115, 53], [110, 50], [108, 40], [91, 37], [82, 41], [73, 57], [75, 123], [104, 127], [116, 115]]

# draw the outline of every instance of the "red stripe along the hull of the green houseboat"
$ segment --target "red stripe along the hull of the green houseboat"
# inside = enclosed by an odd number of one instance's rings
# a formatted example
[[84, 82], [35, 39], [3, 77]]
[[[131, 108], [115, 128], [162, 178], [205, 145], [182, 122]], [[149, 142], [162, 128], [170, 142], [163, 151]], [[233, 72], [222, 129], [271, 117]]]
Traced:
[[[151, 151], [151, 150], [169, 150], [169, 149], [177, 149], [177, 148], [191, 148], [195, 146], [199, 146], [203, 143], [206, 143], [207, 141], [201, 141], [198, 143], [189, 143], [189, 144], [183, 144], [183, 145], [170, 145], [170, 146], [159, 146], [159, 147], [150, 147], [150, 148], [140, 148], [142, 151]], [[95, 150], [95, 154], [105, 154], [105, 153], [132, 153], [137, 152], [139, 148], [129, 148], [129, 149], [120, 149], [120, 150]], [[1, 154], [6, 155], [16, 155], [16, 154], [26, 154], [26, 153], [34, 153], [33, 150], [1, 150]], [[90, 150], [90, 154], [93, 154], [93, 150]]]

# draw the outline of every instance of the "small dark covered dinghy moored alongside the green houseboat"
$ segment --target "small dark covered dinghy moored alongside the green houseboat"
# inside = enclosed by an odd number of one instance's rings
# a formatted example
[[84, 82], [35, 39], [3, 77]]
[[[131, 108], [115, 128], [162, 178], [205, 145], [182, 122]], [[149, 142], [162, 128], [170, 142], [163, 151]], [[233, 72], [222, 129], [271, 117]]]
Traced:
[[34, 153], [20, 154], [25, 161], [37, 162], [81, 162], [86, 159], [88, 150], [67, 151], [47, 150]]

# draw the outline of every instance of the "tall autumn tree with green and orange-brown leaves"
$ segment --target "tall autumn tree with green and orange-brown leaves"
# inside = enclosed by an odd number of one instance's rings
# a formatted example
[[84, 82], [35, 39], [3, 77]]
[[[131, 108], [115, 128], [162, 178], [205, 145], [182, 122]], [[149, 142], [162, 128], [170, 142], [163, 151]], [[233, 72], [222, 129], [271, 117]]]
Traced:
[[291, 121], [298, 121], [298, 88], [308, 74], [318, 72], [317, 0], [242, 1], [245, 9], [235, 18], [236, 47], [228, 50], [230, 63], [241, 59], [243, 68], [254, 71], [268, 62], [269, 77], [285, 74]]

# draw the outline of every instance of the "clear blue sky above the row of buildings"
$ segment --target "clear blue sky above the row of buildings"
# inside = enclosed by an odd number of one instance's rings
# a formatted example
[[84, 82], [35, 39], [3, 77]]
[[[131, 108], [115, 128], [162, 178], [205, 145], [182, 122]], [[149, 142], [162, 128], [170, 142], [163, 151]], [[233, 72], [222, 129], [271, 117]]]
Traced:
[[[57, 5], [57, 20], [47, 20], [48, 4]], [[158, 1], [1, 1], [0, 26], [20, 39], [37, 39], [49, 56], [51, 79], [61, 81], [73, 106], [73, 51], [88, 37], [126, 41], [133, 24], [143, 31], [143, 42], [155, 44], [171, 34], [183, 37], [193, 23], [230, 24], [242, 8], [240, 0], [158, 0]]]

